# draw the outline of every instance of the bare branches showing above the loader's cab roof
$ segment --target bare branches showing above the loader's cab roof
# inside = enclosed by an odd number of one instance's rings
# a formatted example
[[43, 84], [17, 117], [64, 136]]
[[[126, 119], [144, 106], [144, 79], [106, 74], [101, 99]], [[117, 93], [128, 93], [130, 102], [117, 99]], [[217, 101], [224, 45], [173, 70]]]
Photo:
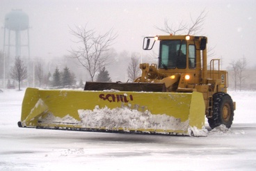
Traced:
[[184, 24], [184, 22], [180, 22], [179, 26], [174, 26], [173, 24], [169, 24], [168, 19], [165, 19], [163, 29], [155, 26], [160, 31], [163, 31], [168, 34], [175, 35], [177, 32], [182, 32], [184, 34], [197, 34], [202, 31], [202, 25], [204, 24], [205, 17], [207, 13], [203, 10], [197, 19], [193, 20], [191, 17], [191, 24]]

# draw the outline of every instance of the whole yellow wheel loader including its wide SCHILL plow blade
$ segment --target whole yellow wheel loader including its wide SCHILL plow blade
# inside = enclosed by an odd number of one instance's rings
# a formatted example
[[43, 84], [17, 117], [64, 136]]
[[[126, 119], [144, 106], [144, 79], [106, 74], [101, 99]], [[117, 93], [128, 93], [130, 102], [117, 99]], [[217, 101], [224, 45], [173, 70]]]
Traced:
[[235, 102], [227, 95], [220, 60], [211, 60], [207, 70], [207, 38], [145, 37], [143, 49], [152, 49], [156, 41], [158, 67], [142, 63], [133, 83], [86, 82], [84, 90], [27, 88], [18, 126], [207, 136], [206, 116], [211, 128], [230, 128]]

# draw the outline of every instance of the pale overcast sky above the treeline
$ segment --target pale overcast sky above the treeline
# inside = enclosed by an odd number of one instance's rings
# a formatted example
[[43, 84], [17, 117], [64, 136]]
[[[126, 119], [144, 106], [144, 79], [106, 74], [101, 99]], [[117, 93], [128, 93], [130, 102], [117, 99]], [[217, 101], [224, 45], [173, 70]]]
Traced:
[[22, 9], [29, 15], [31, 57], [42, 58], [69, 54], [68, 50], [75, 47], [69, 27], [86, 24], [98, 33], [110, 29], [118, 33], [115, 51], [143, 54], [143, 36], [166, 34], [155, 29], [163, 27], [165, 19], [177, 26], [206, 10], [201, 35], [208, 37], [208, 46], [214, 47], [216, 58], [223, 59], [223, 67], [243, 56], [256, 67], [255, 0], [0, 0], [1, 51], [4, 17], [12, 9]]

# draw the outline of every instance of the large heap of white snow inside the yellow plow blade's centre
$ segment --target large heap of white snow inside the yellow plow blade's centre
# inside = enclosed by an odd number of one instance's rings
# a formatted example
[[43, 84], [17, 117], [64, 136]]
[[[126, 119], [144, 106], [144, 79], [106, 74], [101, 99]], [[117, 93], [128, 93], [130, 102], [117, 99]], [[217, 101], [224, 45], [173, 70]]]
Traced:
[[79, 110], [81, 124], [84, 127], [105, 127], [106, 129], [131, 130], [182, 130], [186, 131], [189, 121], [181, 122], [168, 115], [152, 115], [150, 111], [139, 112], [129, 108], [99, 108], [93, 111]]

